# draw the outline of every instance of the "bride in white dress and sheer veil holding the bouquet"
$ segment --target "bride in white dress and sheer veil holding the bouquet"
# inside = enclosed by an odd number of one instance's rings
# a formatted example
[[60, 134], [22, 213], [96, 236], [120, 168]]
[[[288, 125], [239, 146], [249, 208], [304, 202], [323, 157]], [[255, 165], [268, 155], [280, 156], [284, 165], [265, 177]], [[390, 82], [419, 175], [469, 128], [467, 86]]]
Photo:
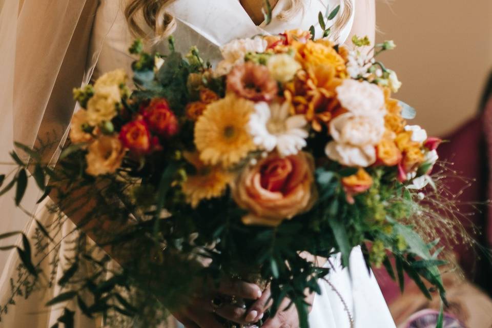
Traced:
[[[0, 2], [0, 65], [5, 72], [0, 78], [3, 87], [0, 91], [2, 156], [13, 140], [33, 145], [50, 131], [58, 131], [56, 142], [51, 143], [61, 144], [74, 108], [71, 89], [116, 68], [130, 71], [133, 58], [127, 49], [135, 34], [148, 40], [149, 50], [159, 52], [166, 51], [166, 42], [162, 39], [174, 34], [179, 40], [178, 51], [186, 53], [190, 45], [196, 45], [202, 55], [212, 58], [214, 63], [220, 59], [220, 47], [235, 38], [294, 28], [307, 30], [312, 24], [319, 35], [318, 13], [340, 5], [331, 37], [344, 43], [351, 35], [368, 35], [374, 41], [374, 0], [269, 1], [273, 8], [271, 24], [264, 22], [264, 0]], [[55, 161], [57, 154], [54, 147], [46, 158]], [[34, 190], [30, 194], [32, 199], [37, 196]], [[20, 229], [19, 222], [24, 218], [8, 201], [0, 203], [3, 213], [8, 214], [4, 217], [9, 218], [0, 221], [0, 234]], [[46, 209], [49, 203], [48, 200], [40, 204], [35, 215], [45, 226], [56, 220]], [[24, 204], [24, 208], [32, 209], [32, 204]], [[76, 223], [75, 218], [72, 220]], [[72, 229], [73, 223], [66, 220], [56, 240], [64, 239]], [[25, 230], [29, 236], [38, 233], [33, 220], [27, 222]], [[97, 237], [93, 237], [97, 241]], [[52, 274], [59, 278], [68, 252], [71, 252], [70, 247], [61, 242], [56, 252], [40, 261], [40, 267], [50, 272], [54, 265]], [[42, 254], [36, 256], [40, 259]], [[5, 268], [0, 278], [0, 327], [48, 328], [57, 324], [64, 308], [74, 311], [76, 327], [101, 326], [100, 318], [85, 317], [72, 301], [45, 308], [46, 301], [59, 293], [58, 286], [38, 291], [28, 291], [26, 287], [25, 293], [33, 295], [28, 298], [16, 295], [11, 285], [20, 279], [17, 277], [19, 263], [16, 253], [11, 253], [7, 261], [0, 257], [0, 268]], [[327, 260], [325, 265], [334, 270], [320, 281], [321, 295], [306, 298], [312, 304], [311, 327], [395, 326], [374, 276], [367, 272], [360, 249], [352, 252], [350, 272], [342, 269], [337, 256]], [[254, 284], [226, 283], [218, 292], [256, 301], [243, 310], [232, 304], [216, 306], [206, 296], [199, 295], [193, 305], [173, 313], [174, 317], [187, 328], [220, 327], [216, 315], [249, 324], [259, 320], [269, 305], [269, 291], [262, 291]], [[295, 328], [297, 313], [292, 307], [279, 312], [263, 326]]]

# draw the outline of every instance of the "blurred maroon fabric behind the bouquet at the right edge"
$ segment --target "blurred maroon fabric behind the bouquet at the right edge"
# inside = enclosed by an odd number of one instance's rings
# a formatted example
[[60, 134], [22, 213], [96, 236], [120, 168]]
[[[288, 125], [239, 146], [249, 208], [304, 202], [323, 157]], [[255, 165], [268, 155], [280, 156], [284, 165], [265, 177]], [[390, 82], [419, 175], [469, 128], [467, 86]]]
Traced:
[[[454, 133], [444, 137], [443, 139], [449, 142], [442, 144], [438, 149], [440, 159], [444, 162], [453, 163], [449, 168], [456, 172], [456, 175], [454, 173], [449, 174], [449, 178], [444, 182], [452, 194], [458, 195], [460, 212], [468, 214], [461, 218], [462, 224], [468, 233], [483, 245], [492, 244], [488, 243], [492, 238], [485, 239], [486, 232], [492, 237], [492, 224], [488, 223], [487, 208], [485, 205], [479, 204], [488, 198], [487, 147], [483, 127], [490, 127], [491, 147], [489, 149], [492, 155], [492, 100], [489, 102], [488, 113], [490, 114], [489, 125], [484, 125], [484, 115], [471, 119]], [[468, 182], [469, 187], [465, 188]], [[490, 194], [492, 195], [492, 190]], [[492, 217], [490, 221], [492, 221]], [[473, 227], [477, 229], [473, 229]], [[460, 244], [455, 247], [454, 251], [467, 277], [483, 289], [492, 291], [489, 286], [491, 280], [488, 276], [489, 265], [487, 264], [489, 261], [487, 259], [480, 260], [480, 256], [483, 255], [480, 250]], [[384, 270], [375, 270], [375, 275], [386, 301], [391, 303], [400, 295], [398, 285]]]

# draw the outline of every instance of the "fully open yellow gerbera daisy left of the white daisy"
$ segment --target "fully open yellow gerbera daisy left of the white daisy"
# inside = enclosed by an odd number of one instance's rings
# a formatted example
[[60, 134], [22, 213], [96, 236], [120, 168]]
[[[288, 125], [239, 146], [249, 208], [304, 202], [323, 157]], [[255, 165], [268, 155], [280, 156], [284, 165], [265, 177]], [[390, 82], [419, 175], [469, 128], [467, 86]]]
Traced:
[[195, 125], [195, 146], [207, 165], [221, 164], [227, 168], [255, 150], [248, 131], [254, 103], [227, 95], [207, 106]]

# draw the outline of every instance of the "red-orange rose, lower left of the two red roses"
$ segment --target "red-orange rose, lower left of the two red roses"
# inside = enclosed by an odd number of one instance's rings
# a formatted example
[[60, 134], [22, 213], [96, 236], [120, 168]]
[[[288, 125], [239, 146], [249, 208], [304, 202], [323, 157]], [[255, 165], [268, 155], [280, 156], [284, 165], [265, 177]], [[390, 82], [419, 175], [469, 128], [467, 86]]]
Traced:
[[119, 139], [125, 148], [138, 154], [146, 154], [151, 150], [152, 142], [149, 127], [142, 119], [134, 120], [119, 132]]

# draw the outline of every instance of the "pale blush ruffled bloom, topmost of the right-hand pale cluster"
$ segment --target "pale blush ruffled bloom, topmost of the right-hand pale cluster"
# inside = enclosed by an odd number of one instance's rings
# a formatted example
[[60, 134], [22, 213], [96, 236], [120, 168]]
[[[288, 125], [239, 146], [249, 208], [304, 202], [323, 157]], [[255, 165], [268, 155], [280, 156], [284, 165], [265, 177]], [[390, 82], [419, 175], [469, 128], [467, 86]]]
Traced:
[[386, 114], [383, 91], [375, 84], [345, 79], [336, 91], [343, 108], [355, 115], [384, 116]]

